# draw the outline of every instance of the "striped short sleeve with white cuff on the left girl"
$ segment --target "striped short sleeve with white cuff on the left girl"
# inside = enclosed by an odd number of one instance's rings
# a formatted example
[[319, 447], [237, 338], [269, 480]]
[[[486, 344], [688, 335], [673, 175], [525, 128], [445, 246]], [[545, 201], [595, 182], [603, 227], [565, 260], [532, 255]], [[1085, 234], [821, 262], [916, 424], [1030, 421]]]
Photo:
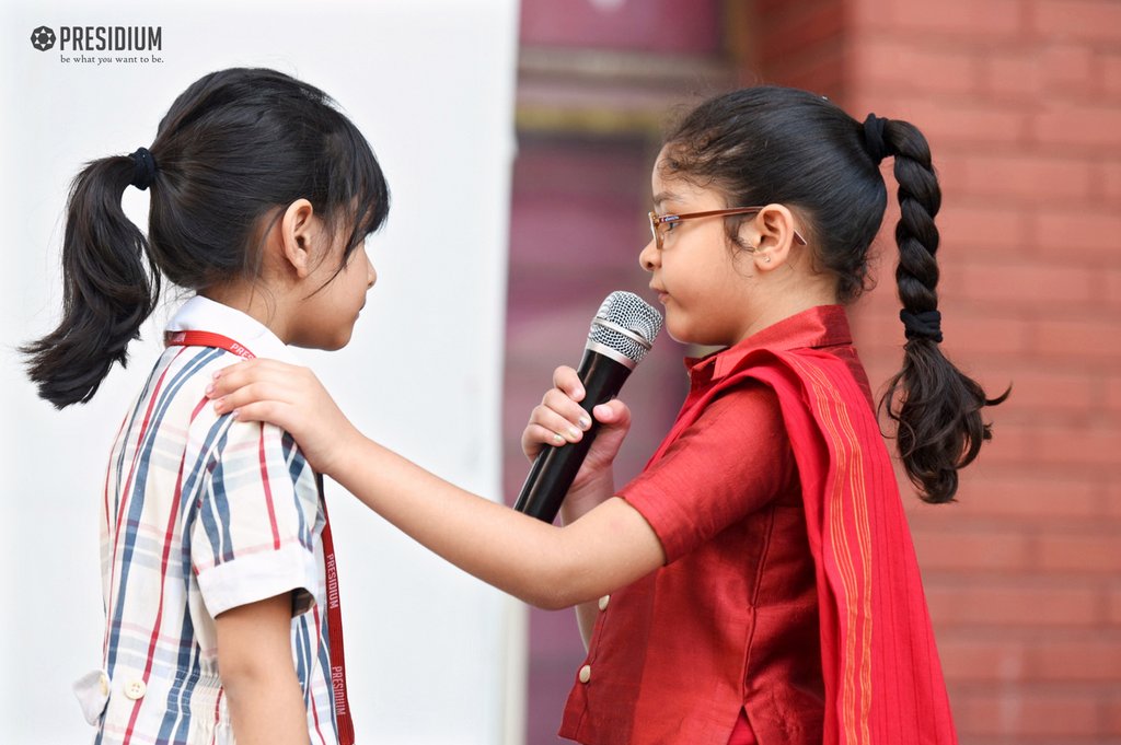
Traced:
[[212, 617], [286, 592], [294, 615], [319, 581], [322, 530], [315, 474], [291, 438], [271, 425], [220, 419], [192, 527], [191, 559]]

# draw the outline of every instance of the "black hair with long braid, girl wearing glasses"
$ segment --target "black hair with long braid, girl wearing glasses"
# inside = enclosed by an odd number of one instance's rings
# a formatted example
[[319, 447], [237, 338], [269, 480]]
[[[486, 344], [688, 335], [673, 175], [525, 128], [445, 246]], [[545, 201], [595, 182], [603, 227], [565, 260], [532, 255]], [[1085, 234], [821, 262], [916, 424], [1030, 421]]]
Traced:
[[[873, 131], [827, 99], [778, 86], [716, 96], [688, 113], [666, 138], [661, 168], [723, 193], [729, 206], [785, 204], [808, 221], [814, 263], [836, 278], [840, 302], [868, 283], [869, 246], [883, 222], [887, 187], [879, 162], [895, 158], [900, 220], [896, 281], [907, 324], [902, 370], [880, 401], [897, 423], [908, 477], [927, 502], [948, 502], [957, 471], [991, 439], [975, 381], [942, 353], [937, 327], [942, 192], [926, 138], [899, 120], [870, 117]], [[729, 236], [735, 234], [729, 221]], [[920, 319], [920, 320], [919, 320]]]

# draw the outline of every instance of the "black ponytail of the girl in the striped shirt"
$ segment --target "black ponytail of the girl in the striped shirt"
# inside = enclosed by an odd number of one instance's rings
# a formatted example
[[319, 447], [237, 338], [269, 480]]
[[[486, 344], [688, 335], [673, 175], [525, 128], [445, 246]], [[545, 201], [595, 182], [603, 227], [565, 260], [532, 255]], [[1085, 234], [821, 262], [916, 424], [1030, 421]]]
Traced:
[[[63, 239], [63, 317], [58, 327], [21, 351], [39, 395], [62, 409], [85, 403], [159, 297], [159, 273], [148, 240], [121, 208], [131, 183], [151, 183], [147, 150], [94, 160], [77, 175], [67, 201]], [[146, 184], [145, 184], [146, 185]]]

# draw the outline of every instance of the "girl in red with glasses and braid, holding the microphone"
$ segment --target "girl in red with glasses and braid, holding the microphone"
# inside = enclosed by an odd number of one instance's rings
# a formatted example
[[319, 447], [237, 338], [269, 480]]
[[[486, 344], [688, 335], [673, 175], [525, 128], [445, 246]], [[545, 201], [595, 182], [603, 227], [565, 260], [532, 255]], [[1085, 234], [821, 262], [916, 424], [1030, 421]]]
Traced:
[[[921, 133], [805, 91], [712, 99], [669, 133], [639, 253], [689, 360], [684, 407], [617, 488], [627, 407], [555, 528], [474, 497], [359, 434], [307, 371], [220, 372], [222, 412], [288, 428], [316, 467], [461, 568], [544, 607], [589, 645], [560, 734], [587, 744], [956, 742], [918, 566], [845, 305], [867, 285], [893, 158], [902, 370], [883, 407], [920, 496], [946, 502], [999, 403], [943, 355], [941, 192]], [[576, 372], [522, 435], [532, 459], [591, 425]]]

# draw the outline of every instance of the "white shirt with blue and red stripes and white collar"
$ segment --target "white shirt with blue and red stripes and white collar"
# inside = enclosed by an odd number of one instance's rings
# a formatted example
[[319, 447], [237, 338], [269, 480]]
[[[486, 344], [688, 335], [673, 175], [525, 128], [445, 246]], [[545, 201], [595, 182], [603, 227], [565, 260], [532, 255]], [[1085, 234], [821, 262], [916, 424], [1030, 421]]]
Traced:
[[[202, 297], [168, 329], [291, 358], [265, 326]], [[95, 745], [234, 743], [214, 618], [286, 592], [308, 742], [337, 743], [315, 474], [287, 432], [214, 415], [205, 388], [237, 361], [168, 347], [113, 445], [101, 510], [104, 664], [75, 687]]]

